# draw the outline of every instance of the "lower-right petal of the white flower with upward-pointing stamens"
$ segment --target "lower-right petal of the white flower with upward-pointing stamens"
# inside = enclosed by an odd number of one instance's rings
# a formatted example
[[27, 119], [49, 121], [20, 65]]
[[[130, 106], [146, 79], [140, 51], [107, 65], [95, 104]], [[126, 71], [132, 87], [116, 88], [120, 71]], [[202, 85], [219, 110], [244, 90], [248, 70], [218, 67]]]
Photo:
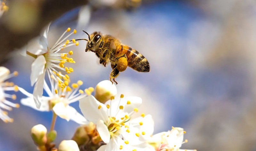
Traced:
[[88, 124], [89, 122], [84, 118], [83, 115], [81, 115], [80, 113], [78, 113], [76, 111], [75, 108], [73, 108], [72, 106], [67, 106], [67, 110], [68, 110], [68, 116], [71, 120], [75, 121], [78, 124], [81, 125], [85, 125]]

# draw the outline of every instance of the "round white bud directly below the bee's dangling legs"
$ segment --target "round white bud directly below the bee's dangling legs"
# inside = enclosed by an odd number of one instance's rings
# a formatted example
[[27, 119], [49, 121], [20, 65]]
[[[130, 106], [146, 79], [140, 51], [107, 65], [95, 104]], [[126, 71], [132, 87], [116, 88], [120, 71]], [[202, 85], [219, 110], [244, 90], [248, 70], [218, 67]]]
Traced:
[[117, 90], [115, 84], [112, 84], [109, 80], [104, 80], [96, 85], [94, 97], [104, 104], [110, 100], [111, 96], [116, 96], [116, 93]]

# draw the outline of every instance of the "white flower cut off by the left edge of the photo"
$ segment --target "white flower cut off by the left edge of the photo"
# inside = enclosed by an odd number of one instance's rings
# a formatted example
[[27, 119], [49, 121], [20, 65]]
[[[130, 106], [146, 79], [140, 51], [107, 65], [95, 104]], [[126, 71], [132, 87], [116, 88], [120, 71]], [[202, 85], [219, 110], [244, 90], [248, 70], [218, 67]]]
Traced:
[[6, 79], [9, 79], [10, 77], [17, 76], [18, 72], [13, 72], [10, 74], [10, 70], [5, 67], [0, 67], [0, 119], [2, 119], [4, 122], [13, 122], [13, 119], [8, 116], [8, 113], [6, 111], [3, 111], [2, 109], [11, 111], [12, 107], [19, 108], [19, 104], [14, 104], [6, 98], [12, 98], [13, 100], [16, 99], [16, 95], [10, 95], [5, 93], [5, 91], [18, 91], [18, 86], [14, 85], [12, 82], [4, 82]]

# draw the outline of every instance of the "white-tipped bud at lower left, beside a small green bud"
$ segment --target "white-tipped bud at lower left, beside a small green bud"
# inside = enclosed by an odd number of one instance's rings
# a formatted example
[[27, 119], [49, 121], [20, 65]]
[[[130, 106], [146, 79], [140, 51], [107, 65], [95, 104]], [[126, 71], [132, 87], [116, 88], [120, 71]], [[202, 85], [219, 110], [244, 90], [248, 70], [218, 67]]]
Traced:
[[38, 124], [31, 128], [30, 135], [37, 146], [43, 146], [47, 142], [47, 129], [42, 124]]

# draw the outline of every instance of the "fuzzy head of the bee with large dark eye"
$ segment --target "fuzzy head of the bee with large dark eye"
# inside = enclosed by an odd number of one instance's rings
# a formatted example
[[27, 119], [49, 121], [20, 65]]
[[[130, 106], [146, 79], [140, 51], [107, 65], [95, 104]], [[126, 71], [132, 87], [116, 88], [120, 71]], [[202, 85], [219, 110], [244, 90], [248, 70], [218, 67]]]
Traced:
[[97, 48], [100, 45], [101, 33], [100, 32], [93, 32], [91, 35], [88, 34], [88, 42], [86, 44], [85, 52], [92, 51], [97, 52]]

